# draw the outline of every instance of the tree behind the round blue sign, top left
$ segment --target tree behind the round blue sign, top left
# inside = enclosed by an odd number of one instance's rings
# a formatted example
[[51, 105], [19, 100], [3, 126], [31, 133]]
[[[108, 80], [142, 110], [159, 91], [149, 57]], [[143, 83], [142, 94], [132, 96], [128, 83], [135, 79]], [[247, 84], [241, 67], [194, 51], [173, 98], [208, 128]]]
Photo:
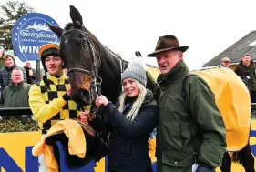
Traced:
[[0, 46], [5, 50], [13, 50], [12, 28], [15, 21], [22, 15], [35, 12], [35, 9], [26, 5], [25, 2], [7, 1], [0, 5]]

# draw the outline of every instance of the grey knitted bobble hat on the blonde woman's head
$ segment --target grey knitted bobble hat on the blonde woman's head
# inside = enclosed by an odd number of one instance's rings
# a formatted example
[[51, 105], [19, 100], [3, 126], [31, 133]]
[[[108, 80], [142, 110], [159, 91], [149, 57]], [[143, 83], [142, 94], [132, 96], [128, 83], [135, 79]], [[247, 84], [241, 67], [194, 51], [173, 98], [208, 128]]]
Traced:
[[136, 79], [139, 83], [146, 87], [146, 64], [144, 63], [143, 58], [136, 58], [134, 61], [130, 62], [128, 68], [121, 76], [122, 82], [126, 78]]

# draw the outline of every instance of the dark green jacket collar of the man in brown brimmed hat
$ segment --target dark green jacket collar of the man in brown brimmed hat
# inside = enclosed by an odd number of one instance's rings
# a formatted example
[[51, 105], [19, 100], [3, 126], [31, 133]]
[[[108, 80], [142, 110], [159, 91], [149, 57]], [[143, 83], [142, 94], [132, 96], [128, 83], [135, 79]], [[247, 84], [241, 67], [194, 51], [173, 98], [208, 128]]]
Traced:
[[185, 64], [184, 60], [181, 59], [179, 62], [174, 66], [172, 69], [170, 69], [169, 73], [163, 75], [160, 74], [157, 81], [159, 85], [172, 83], [175, 80], [177, 80], [180, 76], [185, 76], [189, 73], [189, 68]]

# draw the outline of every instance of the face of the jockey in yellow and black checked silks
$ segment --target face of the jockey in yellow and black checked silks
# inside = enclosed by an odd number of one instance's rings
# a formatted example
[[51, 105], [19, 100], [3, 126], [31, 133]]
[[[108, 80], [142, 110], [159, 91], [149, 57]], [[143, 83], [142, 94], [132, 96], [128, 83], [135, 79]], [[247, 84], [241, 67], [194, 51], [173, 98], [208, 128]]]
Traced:
[[62, 60], [59, 56], [46, 56], [45, 64], [51, 76], [61, 76], [63, 73]]

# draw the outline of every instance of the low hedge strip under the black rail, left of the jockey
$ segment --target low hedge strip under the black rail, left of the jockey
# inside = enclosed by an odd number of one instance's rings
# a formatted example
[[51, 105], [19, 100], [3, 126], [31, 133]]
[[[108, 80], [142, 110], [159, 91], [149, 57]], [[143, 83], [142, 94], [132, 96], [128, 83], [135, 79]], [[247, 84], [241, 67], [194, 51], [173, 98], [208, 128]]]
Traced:
[[0, 133], [38, 131], [35, 120], [32, 119], [3, 119], [0, 120]]

